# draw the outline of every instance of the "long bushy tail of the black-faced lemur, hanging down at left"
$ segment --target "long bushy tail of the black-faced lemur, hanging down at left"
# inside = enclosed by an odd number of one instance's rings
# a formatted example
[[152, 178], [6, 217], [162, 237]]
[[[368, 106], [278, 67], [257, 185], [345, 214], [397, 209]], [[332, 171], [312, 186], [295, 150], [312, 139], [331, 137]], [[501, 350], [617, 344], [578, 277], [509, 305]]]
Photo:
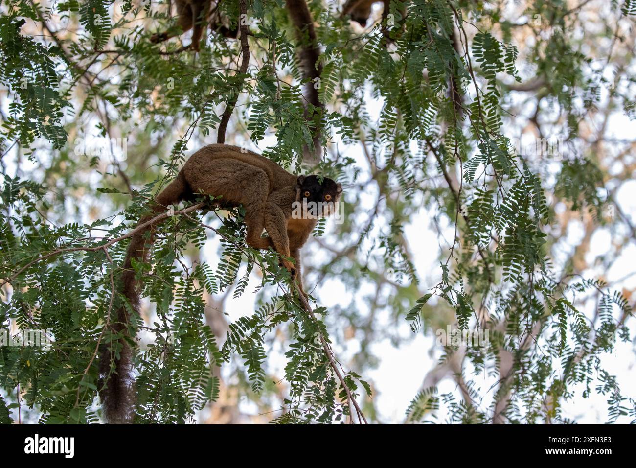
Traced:
[[[152, 205], [152, 213], [139, 220], [137, 225], [148, 222], [159, 213], [165, 211], [168, 205], [176, 204], [188, 195], [188, 183], [183, 174], [179, 173], [168, 187], [157, 195]], [[132, 259], [139, 262], [148, 260], [149, 248], [154, 241], [156, 225], [149, 225], [136, 232], [130, 238], [130, 245], [121, 275], [122, 293], [130, 303], [130, 308], [139, 313], [139, 295], [141, 294], [139, 281], [135, 280]], [[146, 232], [150, 235], [146, 237]], [[113, 322], [114, 320], [114, 322]], [[117, 310], [116, 317], [111, 318], [109, 329], [112, 334], [120, 337], [102, 346], [99, 361], [99, 395], [104, 408], [104, 419], [107, 423], [130, 423], [134, 419], [135, 385], [132, 375], [132, 348], [128, 344], [128, 324], [130, 317], [125, 306]]]

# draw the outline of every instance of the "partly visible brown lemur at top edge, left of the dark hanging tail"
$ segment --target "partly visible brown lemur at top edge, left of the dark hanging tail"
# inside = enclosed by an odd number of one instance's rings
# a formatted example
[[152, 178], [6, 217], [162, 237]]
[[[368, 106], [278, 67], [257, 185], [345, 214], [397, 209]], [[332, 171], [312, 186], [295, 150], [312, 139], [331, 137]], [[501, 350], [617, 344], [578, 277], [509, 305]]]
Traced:
[[213, 31], [218, 32], [226, 38], [236, 38], [239, 34], [238, 27], [230, 29], [221, 22], [221, 17], [217, 11], [218, 3], [216, 3], [215, 8], [212, 9], [212, 0], [176, 0], [176, 4], [177, 16], [179, 17], [177, 23], [179, 27], [181, 27], [181, 31], [166, 31], [153, 34], [150, 38], [151, 42], [158, 43], [167, 41], [170, 38], [179, 36], [183, 34], [183, 32], [190, 31], [190, 29], [194, 28], [190, 47], [198, 52], [201, 38], [208, 25], [210, 25]]

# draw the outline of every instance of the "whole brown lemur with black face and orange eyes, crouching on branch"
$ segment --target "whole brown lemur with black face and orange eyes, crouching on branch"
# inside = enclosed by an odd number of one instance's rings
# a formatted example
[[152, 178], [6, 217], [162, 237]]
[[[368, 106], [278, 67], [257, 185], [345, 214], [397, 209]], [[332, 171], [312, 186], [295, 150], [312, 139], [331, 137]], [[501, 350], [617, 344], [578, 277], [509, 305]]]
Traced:
[[[279, 253], [281, 263], [291, 271], [301, 294], [305, 295], [301, 281], [300, 248], [317, 223], [315, 213], [306, 208], [322, 206], [322, 214], [331, 215], [342, 195], [342, 185], [329, 178], [321, 180], [315, 175], [294, 176], [272, 160], [237, 146], [209, 145], [188, 159], [177, 177], [155, 197], [149, 207], [151, 212], [143, 216], [138, 225], [164, 213], [169, 205], [191, 201], [199, 195], [221, 197], [215, 200], [221, 206], [242, 205], [245, 208], [247, 244], [256, 249], [273, 248]], [[299, 210], [299, 204], [306, 211]], [[299, 213], [301, 216], [298, 216]], [[137, 313], [141, 283], [135, 278], [132, 259], [148, 261], [156, 229], [156, 225], [149, 225], [135, 232], [130, 238], [123, 264], [122, 293], [131, 310]], [[263, 229], [268, 237], [262, 237]], [[290, 258], [293, 262], [287, 260]], [[111, 332], [119, 337], [113, 343], [102, 346], [100, 352], [99, 393], [104, 416], [109, 423], [132, 422], [134, 416], [132, 349], [128, 344], [130, 338], [127, 339], [129, 323], [128, 309], [121, 306], [116, 321], [109, 324]]]

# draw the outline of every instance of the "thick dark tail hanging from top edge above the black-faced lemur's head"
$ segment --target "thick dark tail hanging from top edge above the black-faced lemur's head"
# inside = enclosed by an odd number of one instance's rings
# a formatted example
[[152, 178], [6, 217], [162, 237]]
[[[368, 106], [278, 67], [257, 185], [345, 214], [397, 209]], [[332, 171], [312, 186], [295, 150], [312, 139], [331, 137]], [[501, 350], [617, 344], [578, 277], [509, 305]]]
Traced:
[[[316, 78], [319, 79], [321, 77], [322, 64], [318, 61], [321, 50], [316, 36], [314, 18], [312, 18], [312, 13], [309, 11], [305, 0], [285, 0], [285, 4], [289, 18], [294, 25], [294, 29], [296, 29], [296, 37], [300, 46], [299, 55], [303, 78], [309, 79], [305, 85], [305, 99], [311, 104], [311, 107], [305, 106], [305, 117], [308, 120], [312, 120], [316, 110], [320, 112], [324, 108], [324, 104], [321, 103], [319, 98], [318, 83], [316, 82]], [[309, 148], [305, 148], [306, 159], [320, 159], [320, 134], [321, 127], [317, 125], [313, 136], [314, 150], [310, 152]]]

